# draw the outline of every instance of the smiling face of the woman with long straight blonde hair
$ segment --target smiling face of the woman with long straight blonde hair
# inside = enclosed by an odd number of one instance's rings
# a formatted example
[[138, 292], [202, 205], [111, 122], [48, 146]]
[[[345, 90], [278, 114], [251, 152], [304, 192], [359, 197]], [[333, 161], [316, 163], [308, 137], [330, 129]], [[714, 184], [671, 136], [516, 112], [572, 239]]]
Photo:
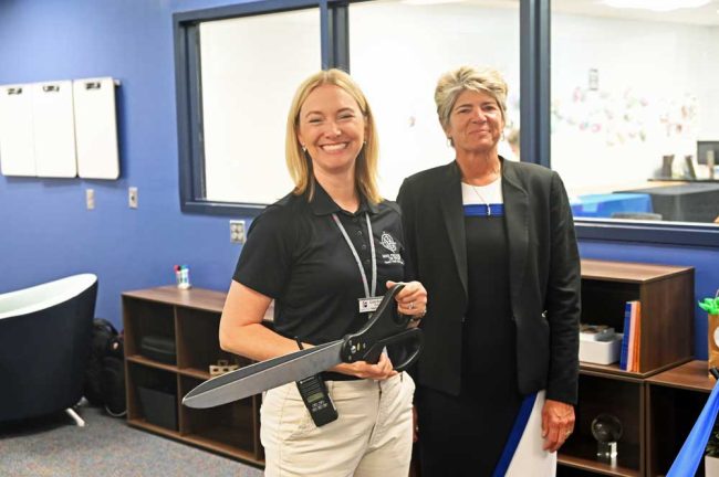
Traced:
[[357, 102], [338, 86], [317, 86], [300, 108], [298, 140], [323, 173], [354, 170], [366, 124]]

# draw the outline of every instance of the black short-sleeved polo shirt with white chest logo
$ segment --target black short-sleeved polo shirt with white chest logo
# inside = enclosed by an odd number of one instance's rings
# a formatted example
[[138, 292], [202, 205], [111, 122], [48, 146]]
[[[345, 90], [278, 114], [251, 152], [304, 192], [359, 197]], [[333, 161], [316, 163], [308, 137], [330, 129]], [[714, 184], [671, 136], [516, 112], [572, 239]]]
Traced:
[[[365, 212], [372, 232], [367, 231]], [[320, 344], [358, 330], [368, 314], [359, 314], [365, 297], [357, 262], [334, 222], [336, 213], [364, 266], [372, 288], [374, 240], [377, 259], [376, 295], [387, 290], [388, 279], [405, 277], [405, 247], [399, 209], [383, 201], [362, 200], [350, 213], [315, 182], [314, 199], [288, 194], [268, 206], [253, 222], [237, 264], [233, 279], [274, 298], [275, 331]]]

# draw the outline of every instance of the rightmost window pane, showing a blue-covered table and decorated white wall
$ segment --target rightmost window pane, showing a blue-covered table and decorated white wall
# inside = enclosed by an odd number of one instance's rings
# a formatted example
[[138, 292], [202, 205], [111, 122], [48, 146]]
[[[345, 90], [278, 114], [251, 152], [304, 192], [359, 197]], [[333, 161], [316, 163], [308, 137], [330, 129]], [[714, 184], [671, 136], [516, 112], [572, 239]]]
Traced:
[[552, 168], [575, 218], [715, 222], [717, 4], [627, 3], [552, 2]]

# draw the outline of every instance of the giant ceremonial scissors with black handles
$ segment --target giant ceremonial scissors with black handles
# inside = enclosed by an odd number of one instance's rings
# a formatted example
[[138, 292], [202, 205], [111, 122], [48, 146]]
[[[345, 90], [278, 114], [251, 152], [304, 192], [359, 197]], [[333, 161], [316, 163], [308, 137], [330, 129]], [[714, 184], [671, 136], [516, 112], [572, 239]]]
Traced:
[[261, 361], [205, 381], [183, 399], [188, 407], [213, 407], [326, 371], [342, 362], [376, 363], [385, 347], [404, 343], [407, 358], [394, 369], [403, 371], [419, 357], [421, 330], [407, 328], [410, 317], [397, 312], [398, 283], [382, 298], [367, 324], [357, 332], [302, 351]]

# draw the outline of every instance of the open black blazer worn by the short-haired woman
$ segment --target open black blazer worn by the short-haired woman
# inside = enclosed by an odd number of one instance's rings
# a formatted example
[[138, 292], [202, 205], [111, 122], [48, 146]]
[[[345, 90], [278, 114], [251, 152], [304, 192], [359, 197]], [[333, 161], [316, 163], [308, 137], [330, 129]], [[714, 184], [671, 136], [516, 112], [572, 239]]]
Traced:
[[[512, 319], [519, 390], [576, 403], [580, 257], [562, 180], [541, 166], [502, 160]], [[457, 162], [405, 179], [408, 271], [428, 293], [418, 383], [459, 394], [462, 322], [468, 304], [467, 248]]]

